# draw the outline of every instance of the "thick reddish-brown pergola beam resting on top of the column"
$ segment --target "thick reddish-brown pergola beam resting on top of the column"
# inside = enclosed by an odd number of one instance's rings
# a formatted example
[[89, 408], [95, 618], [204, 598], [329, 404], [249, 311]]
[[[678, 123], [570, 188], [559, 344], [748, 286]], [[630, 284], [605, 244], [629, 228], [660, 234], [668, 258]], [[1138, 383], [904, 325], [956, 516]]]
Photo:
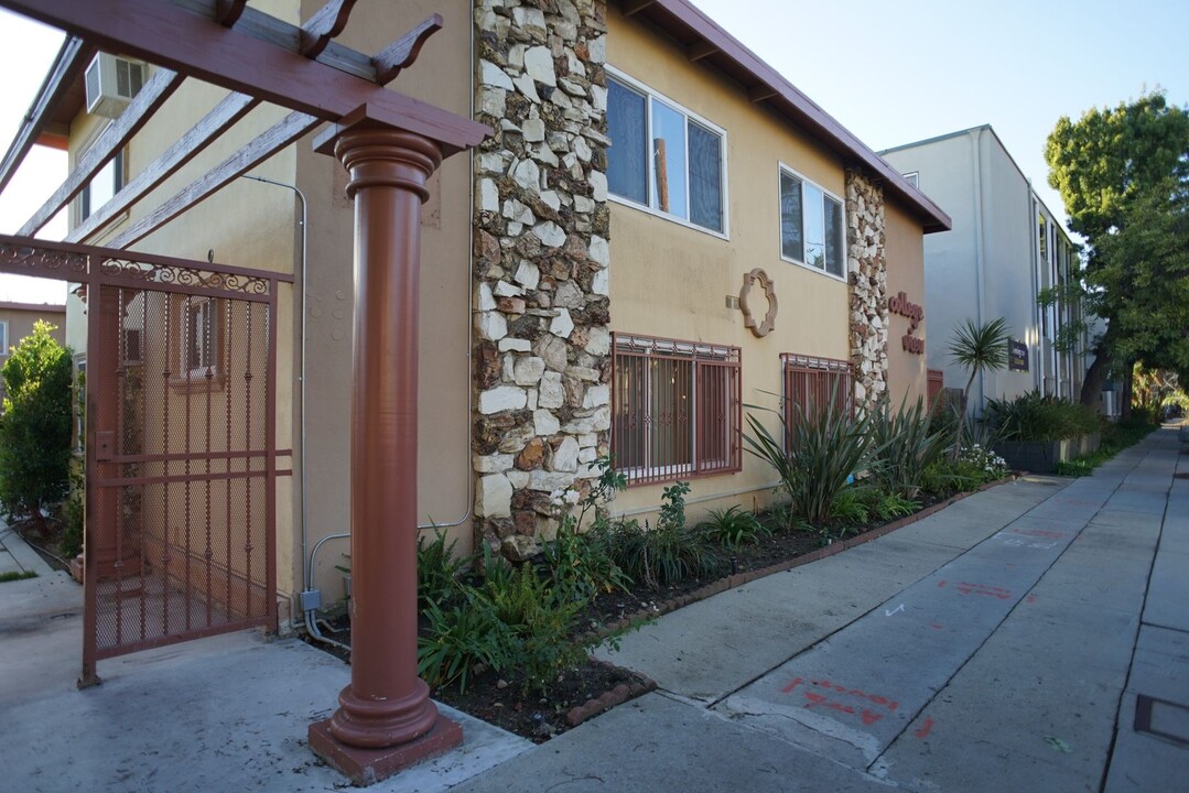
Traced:
[[[327, 121], [366, 106], [382, 124], [439, 141], [445, 155], [478, 144], [487, 132], [482, 124], [272, 46], [238, 27], [195, 20], [193, 13], [159, 0], [0, 0], [0, 5], [113, 52]], [[241, 21], [250, 11], [244, 10]], [[180, 30], [184, 37], [177, 36]]]

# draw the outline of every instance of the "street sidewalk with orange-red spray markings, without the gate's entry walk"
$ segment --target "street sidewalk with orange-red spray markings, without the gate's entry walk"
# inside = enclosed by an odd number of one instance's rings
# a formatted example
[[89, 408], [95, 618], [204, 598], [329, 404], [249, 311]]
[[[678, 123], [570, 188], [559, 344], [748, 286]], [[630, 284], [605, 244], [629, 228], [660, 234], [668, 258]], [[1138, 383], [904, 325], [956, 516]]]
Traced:
[[458, 789], [1185, 789], [1187, 461], [1165, 429], [666, 616], [615, 657], [660, 691]]

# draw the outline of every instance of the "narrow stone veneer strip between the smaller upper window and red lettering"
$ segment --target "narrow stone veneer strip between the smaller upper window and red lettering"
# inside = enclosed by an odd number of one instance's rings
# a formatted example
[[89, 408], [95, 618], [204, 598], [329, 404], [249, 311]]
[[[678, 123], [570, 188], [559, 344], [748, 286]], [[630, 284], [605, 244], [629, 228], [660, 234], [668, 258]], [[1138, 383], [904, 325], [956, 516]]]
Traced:
[[888, 389], [888, 272], [883, 189], [847, 171], [847, 279], [850, 283], [850, 360], [855, 405], [875, 405]]

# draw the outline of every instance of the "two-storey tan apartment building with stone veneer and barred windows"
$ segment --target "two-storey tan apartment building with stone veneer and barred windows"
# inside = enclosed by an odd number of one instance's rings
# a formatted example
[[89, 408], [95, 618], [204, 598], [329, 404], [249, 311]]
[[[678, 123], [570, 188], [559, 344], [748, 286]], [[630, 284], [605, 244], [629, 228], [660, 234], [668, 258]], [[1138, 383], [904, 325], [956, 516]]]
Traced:
[[[294, 25], [321, 6], [257, 5]], [[373, 52], [435, 13], [441, 30], [396, 87], [493, 134], [443, 162], [422, 207], [423, 530], [447, 530], [459, 552], [486, 542], [523, 558], [551, 536], [554, 502], [584, 492], [608, 455], [629, 478], [614, 505], [622, 514], [647, 518], [677, 480], [692, 483], [694, 518], [762, 505], [774, 482], [743, 453], [747, 405], [838, 392], [870, 408], [925, 395], [939, 344], [925, 240], [950, 219], [786, 76], [686, 0], [360, 4], [335, 40]], [[240, 113], [149, 201], [120, 206], [139, 174], [227, 100], [195, 81], [177, 88], [75, 201], [71, 241], [122, 245], [153, 199], [168, 202], [285, 122], [273, 107]], [[59, 108], [56, 130], [73, 164], [114, 122], [75, 102]], [[276, 314], [264, 322], [201, 296], [153, 308], [130, 291], [119, 316], [102, 320], [125, 347], [105, 366], [121, 389], [138, 389], [120, 416], [126, 433], [140, 427], [143, 453], [171, 432], [196, 459], [218, 459], [212, 442], [269, 423], [291, 470], [271, 506], [258, 496], [238, 505], [249, 492], [239, 485], [183, 493], [164, 483], [143, 485], [133, 511], [189, 525], [180, 510], [205, 501], [209, 520], [197, 522], [231, 537], [231, 523], [264, 525], [273, 510], [284, 621], [300, 616], [303, 590], [336, 598], [350, 566], [353, 206], [342, 165], [309, 134], [249, 176], [259, 178], [231, 182], [136, 247], [272, 273]], [[86, 300], [71, 298], [68, 321], [81, 360]], [[275, 344], [269, 390], [259, 373], [271, 353], [241, 351], [262, 334]], [[131, 338], [143, 354], [126, 354]], [[168, 560], [176, 541], [157, 542]], [[268, 597], [254, 574], [232, 571], [214, 587]]]

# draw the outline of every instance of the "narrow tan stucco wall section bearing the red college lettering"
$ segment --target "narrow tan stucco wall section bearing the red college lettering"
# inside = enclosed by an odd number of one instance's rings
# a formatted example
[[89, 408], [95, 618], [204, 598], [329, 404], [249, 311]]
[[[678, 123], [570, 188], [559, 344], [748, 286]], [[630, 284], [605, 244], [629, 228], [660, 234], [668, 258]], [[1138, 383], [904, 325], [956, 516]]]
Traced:
[[885, 207], [885, 258], [888, 269], [888, 298], [905, 292], [907, 301], [921, 306], [925, 316], [911, 331], [912, 335], [925, 340], [925, 352], [916, 354], [905, 350], [902, 336], [910, 333], [912, 321], [895, 311], [888, 313], [888, 395], [892, 407], [901, 401], [914, 402], [926, 396], [926, 369], [930, 341], [925, 328], [929, 325], [929, 306], [925, 304], [925, 245], [920, 224], [888, 201]]

